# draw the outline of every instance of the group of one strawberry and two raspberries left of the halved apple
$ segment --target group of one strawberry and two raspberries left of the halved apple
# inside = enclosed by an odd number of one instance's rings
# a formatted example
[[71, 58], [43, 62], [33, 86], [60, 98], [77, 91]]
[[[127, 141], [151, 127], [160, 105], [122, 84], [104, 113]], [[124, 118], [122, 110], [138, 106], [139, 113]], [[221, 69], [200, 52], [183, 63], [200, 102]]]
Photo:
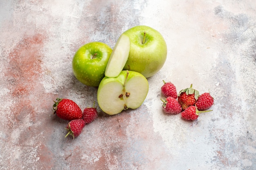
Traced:
[[[95, 104], [95, 102], [94, 102]], [[53, 112], [59, 118], [68, 120], [68, 124], [66, 126], [67, 137], [71, 135], [74, 137], [78, 137], [85, 124], [89, 124], [94, 121], [98, 117], [97, 109], [93, 107], [87, 107], [83, 110], [72, 100], [70, 99], [60, 99], [57, 98], [54, 101]]]

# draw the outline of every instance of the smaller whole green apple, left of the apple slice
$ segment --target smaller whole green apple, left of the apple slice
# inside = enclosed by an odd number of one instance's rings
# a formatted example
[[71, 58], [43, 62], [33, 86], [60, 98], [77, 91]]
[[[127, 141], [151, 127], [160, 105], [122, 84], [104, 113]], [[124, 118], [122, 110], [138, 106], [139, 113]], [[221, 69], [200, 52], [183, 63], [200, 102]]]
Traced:
[[72, 60], [75, 77], [87, 86], [99, 86], [111, 53], [110, 46], [103, 42], [90, 42], [81, 46]]

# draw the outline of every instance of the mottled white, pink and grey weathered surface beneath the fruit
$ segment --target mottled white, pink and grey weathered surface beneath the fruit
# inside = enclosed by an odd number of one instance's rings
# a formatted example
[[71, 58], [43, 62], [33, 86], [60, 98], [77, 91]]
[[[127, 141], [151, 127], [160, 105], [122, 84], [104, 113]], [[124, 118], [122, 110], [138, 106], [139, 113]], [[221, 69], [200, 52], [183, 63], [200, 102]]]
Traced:
[[[255, 170], [255, 10], [254, 0], [2, 0], [0, 169]], [[53, 100], [82, 110], [97, 100], [72, 73], [74, 53], [92, 41], [113, 48], [137, 25], [157, 29], [168, 47], [146, 100], [114, 116], [98, 107], [79, 137], [64, 138]], [[165, 114], [162, 79], [177, 91], [210, 90], [213, 111], [196, 121]]]

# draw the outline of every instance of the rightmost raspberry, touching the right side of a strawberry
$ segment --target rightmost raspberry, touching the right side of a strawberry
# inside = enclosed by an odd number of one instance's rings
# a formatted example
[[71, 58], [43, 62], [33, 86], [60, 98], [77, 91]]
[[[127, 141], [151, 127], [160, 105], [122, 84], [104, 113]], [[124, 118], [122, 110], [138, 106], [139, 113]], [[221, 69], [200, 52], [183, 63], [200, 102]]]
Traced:
[[198, 97], [195, 106], [198, 110], [207, 110], [213, 105], [213, 102], [213, 97], [211, 97], [210, 93], [203, 93]]

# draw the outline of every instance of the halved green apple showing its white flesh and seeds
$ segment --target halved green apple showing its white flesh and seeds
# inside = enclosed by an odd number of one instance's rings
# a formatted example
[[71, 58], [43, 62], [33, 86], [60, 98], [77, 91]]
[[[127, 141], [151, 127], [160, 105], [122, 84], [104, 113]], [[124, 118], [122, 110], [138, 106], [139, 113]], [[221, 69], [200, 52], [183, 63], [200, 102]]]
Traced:
[[117, 77], [104, 77], [99, 84], [97, 100], [109, 115], [128, 108], [138, 108], [148, 94], [148, 80], [135, 71], [121, 71]]

